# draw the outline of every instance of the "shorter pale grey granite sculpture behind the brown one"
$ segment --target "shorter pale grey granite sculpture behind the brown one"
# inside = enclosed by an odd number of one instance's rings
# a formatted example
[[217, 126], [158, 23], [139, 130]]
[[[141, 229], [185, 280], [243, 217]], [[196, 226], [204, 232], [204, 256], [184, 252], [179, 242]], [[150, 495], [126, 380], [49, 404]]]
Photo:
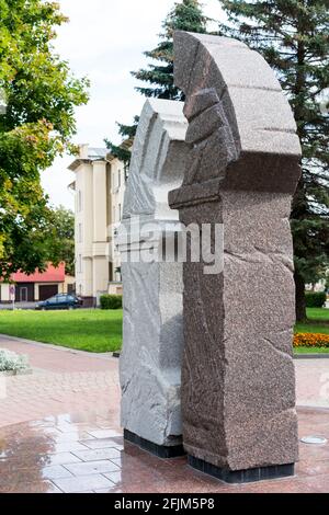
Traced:
[[182, 102], [146, 102], [117, 240], [124, 288], [122, 425], [126, 439], [161, 457], [183, 453], [182, 264], [174, 262], [174, 255], [159, 262], [147, 254], [162, 245], [164, 230], [167, 242], [181, 230], [178, 211], [168, 205], [168, 192], [183, 180], [186, 128]]

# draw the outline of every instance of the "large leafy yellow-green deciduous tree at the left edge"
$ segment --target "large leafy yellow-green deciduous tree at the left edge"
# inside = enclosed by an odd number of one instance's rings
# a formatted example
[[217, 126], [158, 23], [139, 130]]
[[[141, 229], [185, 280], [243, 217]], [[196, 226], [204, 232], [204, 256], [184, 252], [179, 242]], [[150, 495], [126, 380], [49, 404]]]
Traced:
[[88, 81], [75, 79], [52, 46], [55, 27], [66, 21], [54, 2], [0, 0], [0, 276], [5, 278], [18, 270], [44, 270], [49, 260], [52, 209], [39, 174], [57, 154], [75, 150], [75, 106], [88, 101]]

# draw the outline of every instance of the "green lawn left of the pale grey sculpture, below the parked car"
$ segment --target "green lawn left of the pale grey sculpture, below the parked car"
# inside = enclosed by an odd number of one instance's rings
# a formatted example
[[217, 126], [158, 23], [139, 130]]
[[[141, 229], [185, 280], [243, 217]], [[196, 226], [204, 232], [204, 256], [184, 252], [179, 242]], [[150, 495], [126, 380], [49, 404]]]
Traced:
[[94, 353], [122, 346], [122, 310], [0, 311], [0, 333]]

